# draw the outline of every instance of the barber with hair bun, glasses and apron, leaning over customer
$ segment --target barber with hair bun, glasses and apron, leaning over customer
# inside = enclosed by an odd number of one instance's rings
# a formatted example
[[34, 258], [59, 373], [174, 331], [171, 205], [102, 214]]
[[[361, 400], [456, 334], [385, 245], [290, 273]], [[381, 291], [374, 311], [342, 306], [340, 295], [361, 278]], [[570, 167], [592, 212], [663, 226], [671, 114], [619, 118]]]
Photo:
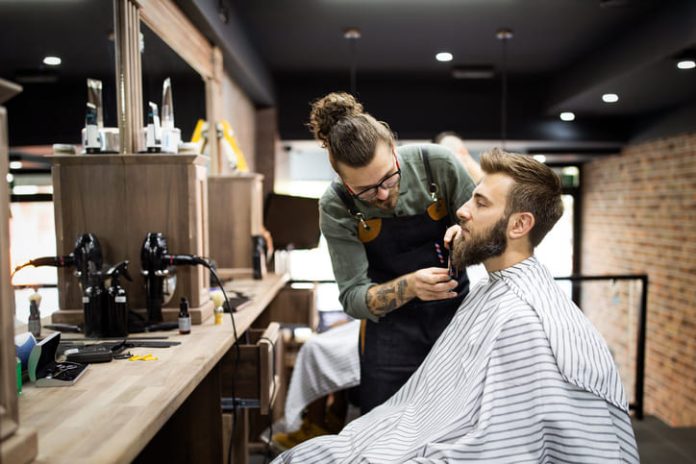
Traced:
[[354, 97], [312, 105], [309, 126], [340, 181], [319, 202], [339, 299], [360, 330], [360, 408], [391, 397], [426, 357], [468, 292], [448, 272], [447, 228], [474, 189], [447, 149], [397, 148]]

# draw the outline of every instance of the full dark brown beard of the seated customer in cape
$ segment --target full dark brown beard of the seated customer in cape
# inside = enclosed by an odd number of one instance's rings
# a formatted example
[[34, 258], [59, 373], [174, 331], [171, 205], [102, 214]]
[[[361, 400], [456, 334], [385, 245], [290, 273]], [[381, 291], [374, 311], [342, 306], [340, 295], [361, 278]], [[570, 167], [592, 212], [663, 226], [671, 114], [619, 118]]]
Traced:
[[452, 265], [463, 271], [468, 266], [502, 255], [507, 247], [505, 232], [508, 218], [509, 216], [501, 218], [479, 236], [469, 233], [469, 238], [465, 239], [464, 231], [460, 232], [452, 245]]

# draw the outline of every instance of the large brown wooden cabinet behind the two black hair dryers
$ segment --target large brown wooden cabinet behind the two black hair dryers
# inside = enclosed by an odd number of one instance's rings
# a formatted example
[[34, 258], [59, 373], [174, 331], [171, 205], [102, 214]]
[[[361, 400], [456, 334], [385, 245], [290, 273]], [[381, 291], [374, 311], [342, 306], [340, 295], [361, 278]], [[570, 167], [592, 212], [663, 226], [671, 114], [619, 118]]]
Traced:
[[[172, 254], [208, 256], [207, 162], [198, 155], [54, 156], [58, 254], [70, 253], [80, 234], [95, 234], [106, 263], [130, 261], [133, 282], [121, 279], [121, 285], [131, 308], [144, 308], [140, 250], [148, 232], [163, 233]], [[176, 273], [176, 292], [165, 305], [164, 319], [176, 318], [185, 296], [192, 322], [200, 323], [212, 314], [209, 273], [201, 266], [178, 266]], [[58, 291], [61, 311], [54, 321], [81, 318], [81, 292], [71, 269], [58, 273]]]

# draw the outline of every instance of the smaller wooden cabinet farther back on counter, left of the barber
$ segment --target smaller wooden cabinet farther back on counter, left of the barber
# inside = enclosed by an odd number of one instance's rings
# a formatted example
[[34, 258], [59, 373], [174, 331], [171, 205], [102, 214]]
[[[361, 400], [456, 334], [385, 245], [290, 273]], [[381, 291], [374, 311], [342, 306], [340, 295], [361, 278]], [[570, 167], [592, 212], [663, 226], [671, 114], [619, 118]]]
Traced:
[[252, 267], [252, 235], [263, 227], [263, 176], [208, 178], [210, 257], [219, 269]]

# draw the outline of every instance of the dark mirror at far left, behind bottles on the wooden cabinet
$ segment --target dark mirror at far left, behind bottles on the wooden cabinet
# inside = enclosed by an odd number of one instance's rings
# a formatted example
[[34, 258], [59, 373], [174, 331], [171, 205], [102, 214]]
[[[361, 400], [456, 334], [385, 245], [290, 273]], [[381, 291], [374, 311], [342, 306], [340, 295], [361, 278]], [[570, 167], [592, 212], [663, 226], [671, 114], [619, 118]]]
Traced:
[[10, 147], [81, 143], [88, 78], [102, 81], [104, 125], [116, 125], [113, 11], [104, 6], [0, 2], [0, 77], [24, 88], [7, 104]]

